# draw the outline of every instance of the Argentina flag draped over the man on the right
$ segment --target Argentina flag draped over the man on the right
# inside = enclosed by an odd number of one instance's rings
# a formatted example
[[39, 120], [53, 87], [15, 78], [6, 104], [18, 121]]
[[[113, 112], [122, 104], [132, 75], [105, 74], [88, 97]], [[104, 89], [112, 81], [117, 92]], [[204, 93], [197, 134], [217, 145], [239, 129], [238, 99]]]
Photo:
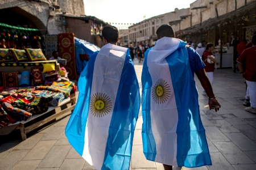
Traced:
[[163, 37], [145, 53], [142, 141], [146, 159], [176, 167], [211, 165], [185, 42]]

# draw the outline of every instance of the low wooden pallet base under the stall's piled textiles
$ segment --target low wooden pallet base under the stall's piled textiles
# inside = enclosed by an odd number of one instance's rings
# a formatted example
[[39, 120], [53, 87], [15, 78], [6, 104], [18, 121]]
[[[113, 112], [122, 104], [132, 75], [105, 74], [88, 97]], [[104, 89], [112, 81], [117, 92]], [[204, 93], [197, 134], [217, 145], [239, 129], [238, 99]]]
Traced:
[[65, 116], [72, 113], [76, 104], [76, 94], [71, 94], [70, 100], [59, 106], [59, 107], [49, 107], [48, 111], [42, 114], [35, 114], [26, 121], [19, 121], [15, 124], [11, 124], [5, 128], [0, 128], [0, 135], [8, 135], [14, 130], [20, 130], [20, 135], [22, 141], [27, 139], [26, 134], [32, 130], [36, 130], [43, 125], [60, 120]]

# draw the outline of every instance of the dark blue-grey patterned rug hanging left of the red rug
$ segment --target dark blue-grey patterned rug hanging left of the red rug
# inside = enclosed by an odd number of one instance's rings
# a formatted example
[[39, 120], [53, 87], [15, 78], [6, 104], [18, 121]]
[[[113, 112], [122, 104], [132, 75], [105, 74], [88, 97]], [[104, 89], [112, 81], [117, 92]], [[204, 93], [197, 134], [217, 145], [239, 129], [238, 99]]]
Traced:
[[44, 44], [46, 45], [46, 58], [49, 59], [52, 56], [52, 52], [58, 51], [57, 35], [46, 35]]

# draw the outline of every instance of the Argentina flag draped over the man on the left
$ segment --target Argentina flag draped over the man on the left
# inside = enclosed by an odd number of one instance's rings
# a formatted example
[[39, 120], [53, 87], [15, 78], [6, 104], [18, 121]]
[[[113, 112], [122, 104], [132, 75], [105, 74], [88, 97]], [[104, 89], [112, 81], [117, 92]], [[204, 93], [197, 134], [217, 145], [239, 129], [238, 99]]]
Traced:
[[127, 48], [107, 44], [89, 59], [65, 134], [96, 169], [129, 169], [140, 95]]

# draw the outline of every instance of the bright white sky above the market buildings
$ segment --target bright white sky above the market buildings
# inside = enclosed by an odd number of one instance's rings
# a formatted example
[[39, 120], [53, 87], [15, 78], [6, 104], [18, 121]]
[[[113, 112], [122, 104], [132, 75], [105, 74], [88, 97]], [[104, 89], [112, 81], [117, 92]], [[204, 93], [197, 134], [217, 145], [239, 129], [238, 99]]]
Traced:
[[[85, 15], [95, 16], [116, 27], [139, 23], [144, 19], [189, 8], [196, 0], [83, 0]], [[114, 24], [113, 24], [114, 23]], [[117, 25], [115, 24], [117, 23]], [[119, 24], [118, 24], [119, 23]], [[129, 25], [130, 26], [130, 25]]]

